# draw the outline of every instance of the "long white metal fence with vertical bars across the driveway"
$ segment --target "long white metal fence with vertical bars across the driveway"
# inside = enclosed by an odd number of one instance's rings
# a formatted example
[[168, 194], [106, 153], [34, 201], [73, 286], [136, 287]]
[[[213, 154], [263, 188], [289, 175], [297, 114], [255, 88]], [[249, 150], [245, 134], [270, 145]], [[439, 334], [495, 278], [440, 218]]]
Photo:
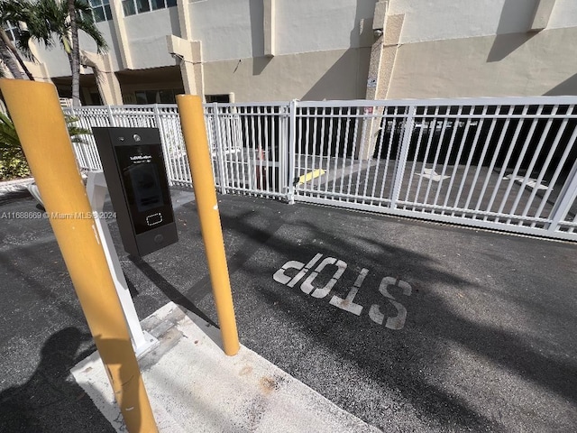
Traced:
[[[577, 240], [577, 97], [207, 104], [217, 189]], [[174, 105], [65, 108], [160, 129], [190, 185]], [[92, 137], [76, 144], [99, 170]]]

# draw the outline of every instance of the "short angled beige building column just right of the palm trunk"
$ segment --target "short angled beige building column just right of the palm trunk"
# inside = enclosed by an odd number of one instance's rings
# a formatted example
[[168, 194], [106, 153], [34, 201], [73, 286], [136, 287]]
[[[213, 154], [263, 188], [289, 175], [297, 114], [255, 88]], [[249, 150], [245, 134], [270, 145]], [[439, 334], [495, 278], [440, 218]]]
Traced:
[[110, 54], [102, 55], [96, 52], [80, 51], [80, 63], [94, 70], [96, 86], [103, 104], [106, 106], [122, 106], [123, 95], [118, 78], [114, 74]]

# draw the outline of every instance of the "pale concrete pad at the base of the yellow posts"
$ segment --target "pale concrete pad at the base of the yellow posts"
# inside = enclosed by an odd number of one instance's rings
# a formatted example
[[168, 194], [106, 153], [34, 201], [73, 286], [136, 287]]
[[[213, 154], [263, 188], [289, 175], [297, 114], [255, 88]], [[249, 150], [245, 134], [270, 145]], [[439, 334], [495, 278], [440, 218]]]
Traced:
[[[139, 362], [160, 431], [380, 431], [244, 346], [236, 356], [224, 355], [220, 331], [173, 302], [142, 328], [159, 339]], [[124, 431], [98, 354], [71, 373], [116, 431]]]

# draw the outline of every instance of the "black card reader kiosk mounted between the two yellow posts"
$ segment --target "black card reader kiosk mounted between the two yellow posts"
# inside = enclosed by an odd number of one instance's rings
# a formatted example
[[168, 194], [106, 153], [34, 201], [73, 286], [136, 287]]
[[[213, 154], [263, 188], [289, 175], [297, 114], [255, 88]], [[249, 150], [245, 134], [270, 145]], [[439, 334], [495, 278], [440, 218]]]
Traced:
[[126, 252], [142, 256], [177, 242], [159, 130], [92, 132]]

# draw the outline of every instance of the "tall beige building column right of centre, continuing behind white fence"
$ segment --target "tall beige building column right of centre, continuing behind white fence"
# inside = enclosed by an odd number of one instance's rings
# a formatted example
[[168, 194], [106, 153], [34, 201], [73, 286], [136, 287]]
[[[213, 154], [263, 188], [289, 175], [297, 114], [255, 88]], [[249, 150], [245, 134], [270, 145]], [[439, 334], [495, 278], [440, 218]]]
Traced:
[[[405, 20], [404, 14], [389, 15], [389, 1], [380, 0], [375, 5], [375, 14], [372, 22], [372, 32], [375, 42], [371, 47], [371, 62], [367, 78], [367, 100], [386, 99], [389, 93], [390, 80], [398, 51], [398, 41]], [[382, 108], [377, 108], [374, 115], [382, 115]], [[359, 157], [363, 160], [371, 159], [379, 136], [381, 117], [371, 118], [367, 122], [368, 134], [362, 143], [362, 152]]]

